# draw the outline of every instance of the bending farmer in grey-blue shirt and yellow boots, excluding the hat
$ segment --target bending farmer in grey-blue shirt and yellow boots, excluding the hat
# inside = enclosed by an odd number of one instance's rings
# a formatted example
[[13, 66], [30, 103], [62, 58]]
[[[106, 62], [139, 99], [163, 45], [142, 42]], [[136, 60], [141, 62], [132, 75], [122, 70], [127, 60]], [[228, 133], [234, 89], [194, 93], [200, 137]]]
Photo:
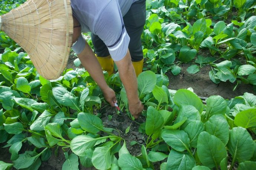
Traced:
[[[145, 24], [145, 0], [71, 0], [73, 50], [111, 106], [115, 92], [106, 84], [102, 69], [111, 75], [114, 62], [127, 92], [129, 110], [138, 118], [143, 110], [136, 75], [142, 72], [141, 33]], [[81, 32], [91, 32], [95, 54]], [[113, 62], [114, 60], [114, 62]]]

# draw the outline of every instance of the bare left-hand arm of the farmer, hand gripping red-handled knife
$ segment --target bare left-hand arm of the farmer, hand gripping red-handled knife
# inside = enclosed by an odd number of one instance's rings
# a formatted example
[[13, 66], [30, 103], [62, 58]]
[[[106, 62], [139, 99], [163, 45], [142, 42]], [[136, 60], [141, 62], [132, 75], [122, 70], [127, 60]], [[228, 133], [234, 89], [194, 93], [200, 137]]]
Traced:
[[106, 84], [101, 65], [87, 42], [84, 50], [78, 54], [78, 58], [82, 62], [83, 67], [86, 68], [93, 80], [101, 88], [106, 101], [108, 101], [111, 106], [114, 106], [114, 102], [116, 103], [115, 92]]

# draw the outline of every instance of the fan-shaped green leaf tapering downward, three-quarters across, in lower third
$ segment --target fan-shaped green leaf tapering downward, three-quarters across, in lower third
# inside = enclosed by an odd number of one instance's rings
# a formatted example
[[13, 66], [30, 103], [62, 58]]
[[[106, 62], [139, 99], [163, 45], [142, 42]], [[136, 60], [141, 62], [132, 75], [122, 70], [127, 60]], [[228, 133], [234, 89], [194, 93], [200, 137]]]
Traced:
[[188, 134], [191, 147], [197, 147], [198, 136], [201, 132], [204, 131], [204, 129], [204, 123], [198, 120], [193, 121], [186, 126], [184, 131]]

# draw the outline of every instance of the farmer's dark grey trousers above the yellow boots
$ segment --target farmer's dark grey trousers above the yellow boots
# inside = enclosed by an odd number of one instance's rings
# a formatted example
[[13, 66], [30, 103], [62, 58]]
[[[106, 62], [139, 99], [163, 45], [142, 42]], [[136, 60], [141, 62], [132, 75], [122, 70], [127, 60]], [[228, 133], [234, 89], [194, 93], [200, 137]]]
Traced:
[[[146, 21], [146, 0], [139, 0], [131, 5], [131, 8], [123, 17], [125, 29], [130, 37], [129, 51], [132, 61], [141, 61], [143, 52], [141, 46], [141, 34]], [[109, 56], [109, 51], [98, 35], [91, 34], [94, 52], [99, 57]]]

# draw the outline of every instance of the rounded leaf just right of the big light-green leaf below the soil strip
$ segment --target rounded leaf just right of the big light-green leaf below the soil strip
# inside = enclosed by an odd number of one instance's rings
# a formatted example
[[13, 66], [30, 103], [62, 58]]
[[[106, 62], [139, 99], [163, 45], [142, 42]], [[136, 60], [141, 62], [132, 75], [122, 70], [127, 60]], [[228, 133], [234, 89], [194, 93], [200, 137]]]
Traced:
[[221, 96], [210, 96], [206, 100], [206, 119], [216, 114], [224, 115], [227, 109], [227, 102]]

